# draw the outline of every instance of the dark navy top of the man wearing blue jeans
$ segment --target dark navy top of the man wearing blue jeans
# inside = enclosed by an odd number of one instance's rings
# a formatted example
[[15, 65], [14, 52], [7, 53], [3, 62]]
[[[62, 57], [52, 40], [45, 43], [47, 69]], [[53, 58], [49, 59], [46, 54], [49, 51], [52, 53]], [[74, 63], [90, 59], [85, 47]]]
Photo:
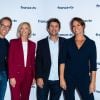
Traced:
[[0, 72], [7, 71], [8, 46], [8, 41], [0, 38]]

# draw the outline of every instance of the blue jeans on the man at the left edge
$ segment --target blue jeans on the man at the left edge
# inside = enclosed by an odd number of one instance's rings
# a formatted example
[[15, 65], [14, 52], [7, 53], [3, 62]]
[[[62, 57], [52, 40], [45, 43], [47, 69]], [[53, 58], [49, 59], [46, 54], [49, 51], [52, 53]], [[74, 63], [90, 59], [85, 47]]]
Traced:
[[4, 100], [7, 88], [7, 74], [5, 71], [0, 72], [0, 100]]

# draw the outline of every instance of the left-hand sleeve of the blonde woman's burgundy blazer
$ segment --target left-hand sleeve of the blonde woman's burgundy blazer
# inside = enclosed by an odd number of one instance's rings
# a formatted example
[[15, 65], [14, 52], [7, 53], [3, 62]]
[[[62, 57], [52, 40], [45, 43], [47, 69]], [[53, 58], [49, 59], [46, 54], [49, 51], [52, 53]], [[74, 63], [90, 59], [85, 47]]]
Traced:
[[9, 52], [8, 52], [8, 74], [9, 74], [9, 78], [13, 78], [14, 77], [14, 43], [11, 40], [10, 44], [9, 44]]

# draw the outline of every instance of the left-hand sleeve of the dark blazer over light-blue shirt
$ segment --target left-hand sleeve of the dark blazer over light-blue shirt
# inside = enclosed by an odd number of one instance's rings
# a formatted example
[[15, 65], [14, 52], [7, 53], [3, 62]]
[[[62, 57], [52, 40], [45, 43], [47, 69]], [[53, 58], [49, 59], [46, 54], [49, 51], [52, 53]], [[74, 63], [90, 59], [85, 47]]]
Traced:
[[43, 78], [43, 72], [42, 72], [43, 60], [42, 60], [42, 52], [41, 51], [42, 51], [42, 46], [38, 42], [37, 50], [36, 50], [36, 79]]

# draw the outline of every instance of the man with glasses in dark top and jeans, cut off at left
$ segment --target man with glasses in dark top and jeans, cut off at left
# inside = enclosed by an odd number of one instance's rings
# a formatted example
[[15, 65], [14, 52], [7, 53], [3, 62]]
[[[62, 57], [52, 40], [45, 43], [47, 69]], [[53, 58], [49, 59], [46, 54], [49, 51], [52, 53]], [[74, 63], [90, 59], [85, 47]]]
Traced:
[[12, 26], [12, 20], [9, 17], [0, 19], [0, 100], [4, 100], [7, 87], [7, 57], [9, 43], [5, 36]]

